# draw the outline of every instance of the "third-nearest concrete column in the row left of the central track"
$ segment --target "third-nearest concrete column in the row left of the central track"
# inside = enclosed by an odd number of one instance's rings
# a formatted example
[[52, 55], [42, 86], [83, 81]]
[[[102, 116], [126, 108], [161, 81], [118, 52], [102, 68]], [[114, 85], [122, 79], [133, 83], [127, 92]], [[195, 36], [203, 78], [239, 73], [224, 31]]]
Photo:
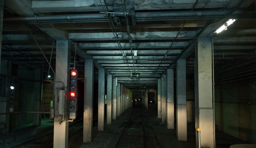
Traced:
[[105, 70], [99, 69], [98, 131], [104, 131]]

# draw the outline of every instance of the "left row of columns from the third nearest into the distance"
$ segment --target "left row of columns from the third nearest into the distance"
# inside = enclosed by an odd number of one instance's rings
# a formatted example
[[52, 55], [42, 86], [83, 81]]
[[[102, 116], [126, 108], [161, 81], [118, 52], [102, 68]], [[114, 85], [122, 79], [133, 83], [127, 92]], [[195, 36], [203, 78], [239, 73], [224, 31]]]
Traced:
[[105, 97], [105, 70], [99, 69], [98, 90], [98, 131], [104, 131], [104, 104], [106, 104], [106, 124], [119, 117], [132, 106], [131, 91], [117, 82], [117, 78], [107, 75], [107, 94]]

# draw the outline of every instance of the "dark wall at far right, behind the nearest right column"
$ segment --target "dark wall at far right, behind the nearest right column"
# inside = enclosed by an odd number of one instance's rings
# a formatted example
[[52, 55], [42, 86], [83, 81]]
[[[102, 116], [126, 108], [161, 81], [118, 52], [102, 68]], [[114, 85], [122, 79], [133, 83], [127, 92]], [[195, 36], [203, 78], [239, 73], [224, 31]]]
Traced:
[[256, 81], [215, 86], [216, 129], [256, 143]]

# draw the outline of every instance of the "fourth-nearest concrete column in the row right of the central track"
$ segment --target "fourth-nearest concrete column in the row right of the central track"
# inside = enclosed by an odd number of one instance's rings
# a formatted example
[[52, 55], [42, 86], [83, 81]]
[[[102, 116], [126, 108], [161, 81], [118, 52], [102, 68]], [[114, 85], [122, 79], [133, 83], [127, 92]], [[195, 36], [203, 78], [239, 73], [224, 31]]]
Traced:
[[162, 123], [166, 122], [166, 75], [162, 75], [161, 78], [161, 84], [162, 84], [162, 92], [161, 92], [161, 102], [162, 102]]

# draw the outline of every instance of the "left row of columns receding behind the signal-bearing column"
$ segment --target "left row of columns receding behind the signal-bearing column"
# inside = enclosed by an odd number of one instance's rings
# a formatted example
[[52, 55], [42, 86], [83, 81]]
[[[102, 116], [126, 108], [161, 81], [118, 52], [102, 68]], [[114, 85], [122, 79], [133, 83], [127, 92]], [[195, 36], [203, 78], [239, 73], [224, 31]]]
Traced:
[[[92, 141], [93, 109], [93, 60], [85, 60], [85, 104], [84, 104], [84, 137], [83, 142]], [[106, 124], [111, 124], [127, 108], [132, 106], [131, 91], [117, 82], [116, 77], [107, 75], [105, 94], [105, 70], [99, 69], [98, 76], [98, 131], [104, 131], [104, 106], [106, 104]]]

